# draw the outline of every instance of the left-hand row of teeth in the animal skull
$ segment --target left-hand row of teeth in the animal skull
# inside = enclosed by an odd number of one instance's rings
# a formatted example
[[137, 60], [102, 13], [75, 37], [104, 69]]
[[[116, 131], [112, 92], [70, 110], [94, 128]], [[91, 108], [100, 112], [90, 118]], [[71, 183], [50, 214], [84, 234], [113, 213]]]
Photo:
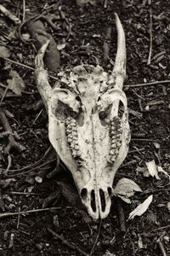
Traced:
[[65, 135], [71, 148], [71, 154], [74, 159], [81, 156], [78, 145], [77, 121], [71, 117], [65, 119]]

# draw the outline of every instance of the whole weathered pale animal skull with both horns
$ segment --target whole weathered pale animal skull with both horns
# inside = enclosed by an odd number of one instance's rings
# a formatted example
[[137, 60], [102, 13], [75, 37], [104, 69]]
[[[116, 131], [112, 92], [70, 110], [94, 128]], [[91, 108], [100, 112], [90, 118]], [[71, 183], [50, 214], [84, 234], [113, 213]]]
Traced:
[[126, 45], [118, 15], [116, 30], [116, 61], [111, 73], [99, 65], [77, 66], [60, 72], [59, 82], [52, 88], [42, 61], [48, 42], [35, 61], [37, 88], [48, 111], [49, 140], [70, 170], [82, 203], [96, 219], [110, 212], [112, 183], [130, 141], [127, 97], [122, 91]]

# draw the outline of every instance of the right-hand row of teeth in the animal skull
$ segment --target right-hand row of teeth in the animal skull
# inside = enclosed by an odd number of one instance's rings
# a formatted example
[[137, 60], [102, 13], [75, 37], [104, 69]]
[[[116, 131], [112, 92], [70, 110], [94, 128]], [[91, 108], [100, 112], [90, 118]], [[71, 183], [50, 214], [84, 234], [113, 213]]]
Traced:
[[122, 145], [121, 135], [122, 135], [121, 119], [118, 117], [114, 117], [114, 119], [111, 120], [111, 125], [110, 125], [111, 149], [109, 152], [109, 162], [111, 162], [111, 164], [114, 164], [119, 154], [119, 150]]

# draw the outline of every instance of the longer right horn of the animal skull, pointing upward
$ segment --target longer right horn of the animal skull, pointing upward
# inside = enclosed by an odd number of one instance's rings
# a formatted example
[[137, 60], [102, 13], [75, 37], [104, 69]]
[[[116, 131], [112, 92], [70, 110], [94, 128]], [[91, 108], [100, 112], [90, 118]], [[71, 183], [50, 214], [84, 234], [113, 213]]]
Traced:
[[121, 20], [116, 16], [116, 31], [117, 31], [117, 51], [116, 60], [113, 67], [113, 74], [116, 78], [116, 87], [122, 90], [123, 82], [126, 76], [126, 43], [125, 33], [122, 27]]

